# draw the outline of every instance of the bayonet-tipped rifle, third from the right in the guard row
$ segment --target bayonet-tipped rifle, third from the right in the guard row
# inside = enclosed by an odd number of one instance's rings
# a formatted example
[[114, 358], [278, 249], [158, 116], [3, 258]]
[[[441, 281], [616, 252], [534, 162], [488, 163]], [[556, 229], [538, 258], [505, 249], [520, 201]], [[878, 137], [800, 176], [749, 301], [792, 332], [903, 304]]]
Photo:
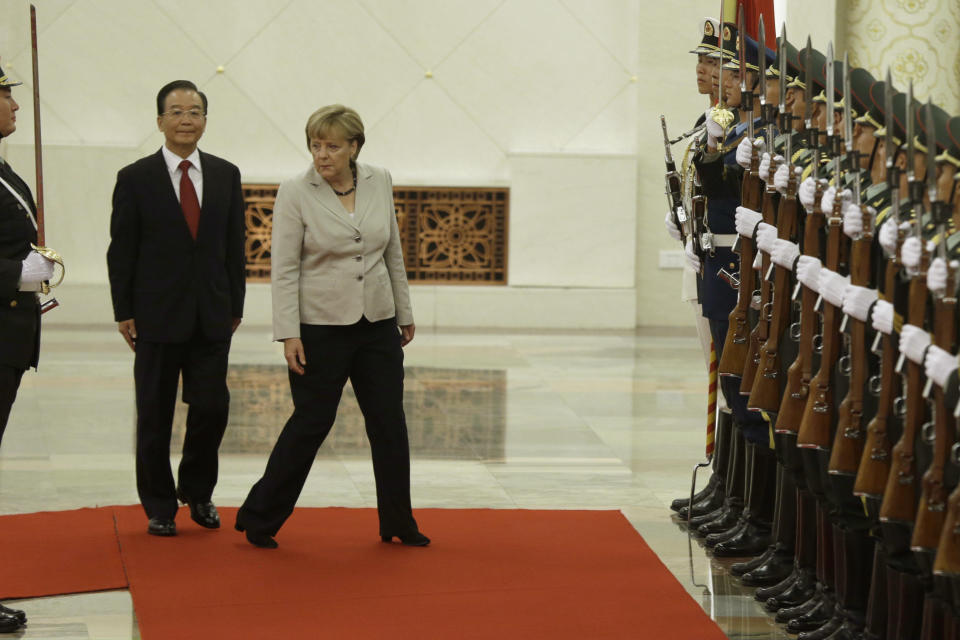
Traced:
[[[906, 125], [907, 149], [913, 146], [913, 82], [907, 89]], [[913, 204], [915, 226], [914, 233], [923, 244], [923, 226], [921, 222], [923, 209], [923, 183], [916, 180], [914, 163], [907, 162], [907, 184], [910, 200]], [[930, 177], [928, 176], [928, 179]], [[936, 180], [936, 178], [932, 178]], [[907, 296], [907, 320], [910, 324], [922, 327], [926, 315], [927, 303], [927, 266], [930, 256], [926, 247], [922, 248], [920, 258], [920, 272], [910, 282], [910, 291]], [[881, 522], [899, 522], [913, 524], [916, 517], [916, 457], [914, 455], [914, 440], [922, 428], [926, 401], [923, 397], [923, 365], [908, 361], [901, 356], [898, 362], [906, 366], [906, 418], [903, 423], [903, 434], [893, 447], [892, 465], [887, 478], [887, 487], [883, 492], [883, 502], [880, 505]]]

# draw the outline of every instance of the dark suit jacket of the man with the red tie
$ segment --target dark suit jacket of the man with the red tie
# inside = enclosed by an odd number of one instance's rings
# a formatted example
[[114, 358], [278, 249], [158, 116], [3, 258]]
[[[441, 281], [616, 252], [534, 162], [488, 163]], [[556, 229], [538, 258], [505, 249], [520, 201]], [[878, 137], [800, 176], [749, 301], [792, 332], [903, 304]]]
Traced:
[[161, 151], [117, 174], [107, 250], [113, 313], [117, 322], [135, 320], [139, 340], [186, 342], [198, 331], [208, 340], [228, 340], [233, 318], [243, 316], [240, 170], [202, 151], [200, 170], [196, 241]]

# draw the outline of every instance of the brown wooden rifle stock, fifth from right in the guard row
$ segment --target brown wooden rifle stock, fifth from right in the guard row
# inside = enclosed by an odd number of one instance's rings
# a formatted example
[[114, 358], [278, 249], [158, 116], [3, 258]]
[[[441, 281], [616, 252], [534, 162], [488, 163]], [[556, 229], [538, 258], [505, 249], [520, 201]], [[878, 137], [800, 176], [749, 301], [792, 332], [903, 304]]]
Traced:
[[[850, 282], [857, 286], [870, 283], [872, 230], [853, 242], [850, 251]], [[830, 450], [827, 471], [835, 475], [856, 475], [863, 456], [863, 387], [867, 381], [867, 325], [847, 317], [850, 323], [850, 388], [837, 412], [837, 431]]]

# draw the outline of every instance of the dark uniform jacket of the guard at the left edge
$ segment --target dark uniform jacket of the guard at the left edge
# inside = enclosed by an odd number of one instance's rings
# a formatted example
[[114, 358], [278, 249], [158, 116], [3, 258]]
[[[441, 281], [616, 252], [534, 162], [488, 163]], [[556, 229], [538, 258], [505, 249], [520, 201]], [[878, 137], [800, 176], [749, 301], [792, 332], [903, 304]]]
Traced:
[[[9, 168], [0, 177], [26, 200], [34, 215], [30, 188]], [[37, 230], [19, 200], [0, 185], [0, 365], [28, 369], [40, 354], [40, 306], [35, 293], [19, 291], [21, 263], [37, 242]]]

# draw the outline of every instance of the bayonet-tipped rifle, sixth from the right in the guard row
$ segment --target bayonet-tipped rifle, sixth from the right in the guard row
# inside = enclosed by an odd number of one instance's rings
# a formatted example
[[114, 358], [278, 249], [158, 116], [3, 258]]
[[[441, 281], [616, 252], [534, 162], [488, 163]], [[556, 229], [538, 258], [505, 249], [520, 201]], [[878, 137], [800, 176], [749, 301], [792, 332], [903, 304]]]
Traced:
[[[834, 165], [834, 184], [837, 186], [837, 197], [833, 202], [833, 210], [827, 219], [827, 262], [824, 265], [831, 271], [837, 271], [840, 266], [843, 242], [843, 198], [840, 197], [840, 188], [843, 184], [840, 168], [840, 156], [843, 153], [843, 141], [833, 130], [833, 43], [827, 48], [827, 143], [831, 147], [831, 156]], [[805, 449], [830, 449], [831, 422], [834, 410], [833, 398], [833, 371], [840, 356], [840, 316], [841, 310], [833, 306], [821, 296], [823, 304], [822, 344], [823, 352], [820, 358], [820, 370], [810, 382], [810, 393], [807, 404], [803, 408], [803, 418], [800, 422], [800, 432], [797, 434], [797, 446]]]

